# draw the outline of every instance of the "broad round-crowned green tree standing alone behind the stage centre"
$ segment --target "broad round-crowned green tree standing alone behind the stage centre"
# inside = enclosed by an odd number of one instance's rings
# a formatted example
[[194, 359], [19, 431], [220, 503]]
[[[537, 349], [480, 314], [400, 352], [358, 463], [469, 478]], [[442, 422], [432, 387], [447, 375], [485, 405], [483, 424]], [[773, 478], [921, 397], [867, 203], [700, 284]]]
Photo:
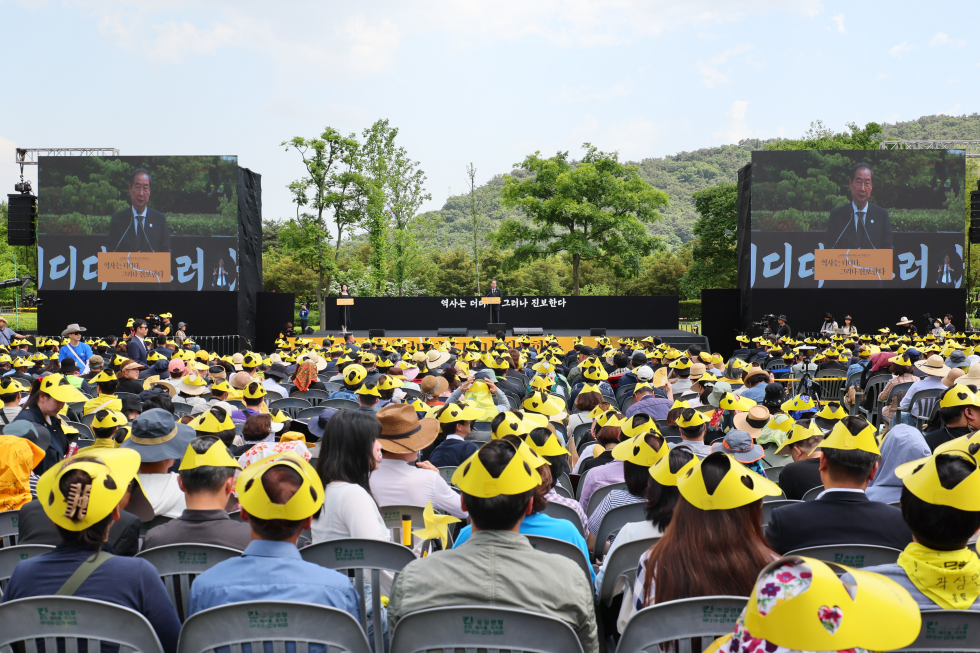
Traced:
[[617, 153], [590, 143], [583, 148], [578, 163], [568, 152], [549, 159], [535, 152], [515, 166], [533, 174], [505, 178], [504, 205], [520, 208], [529, 221], [505, 220], [497, 232], [500, 246], [515, 246], [511, 265], [569, 252], [574, 295], [582, 261], [607, 261], [620, 276], [638, 274], [642, 257], [658, 242], [646, 225], [668, 204], [667, 194], [643, 181], [635, 165], [621, 163]]

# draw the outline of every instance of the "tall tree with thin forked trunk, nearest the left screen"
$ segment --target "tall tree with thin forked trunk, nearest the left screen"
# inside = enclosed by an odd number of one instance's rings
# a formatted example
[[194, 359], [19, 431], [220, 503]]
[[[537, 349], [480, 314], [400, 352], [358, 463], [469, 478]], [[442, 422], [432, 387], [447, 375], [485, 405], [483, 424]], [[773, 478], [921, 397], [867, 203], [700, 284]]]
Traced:
[[344, 236], [364, 225], [381, 194], [364, 173], [354, 134], [343, 136], [327, 127], [319, 137], [297, 136], [282, 145], [300, 155], [306, 174], [289, 185], [296, 217], [283, 224], [279, 242], [287, 255], [316, 274], [317, 308], [323, 315]]

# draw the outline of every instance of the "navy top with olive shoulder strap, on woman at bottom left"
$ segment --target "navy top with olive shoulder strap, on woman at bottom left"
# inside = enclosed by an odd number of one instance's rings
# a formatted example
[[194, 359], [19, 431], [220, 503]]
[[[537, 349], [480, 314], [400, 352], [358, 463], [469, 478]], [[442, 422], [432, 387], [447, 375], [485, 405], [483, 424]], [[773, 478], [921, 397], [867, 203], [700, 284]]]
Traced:
[[[36, 558], [21, 560], [3, 591], [2, 602], [55, 594], [94, 553], [91, 547], [62, 544]], [[177, 611], [156, 568], [146, 560], [113, 557], [93, 571], [74, 596], [115, 603], [139, 612], [150, 622], [163, 650], [166, 653], [177, 650], [180, 635]]]

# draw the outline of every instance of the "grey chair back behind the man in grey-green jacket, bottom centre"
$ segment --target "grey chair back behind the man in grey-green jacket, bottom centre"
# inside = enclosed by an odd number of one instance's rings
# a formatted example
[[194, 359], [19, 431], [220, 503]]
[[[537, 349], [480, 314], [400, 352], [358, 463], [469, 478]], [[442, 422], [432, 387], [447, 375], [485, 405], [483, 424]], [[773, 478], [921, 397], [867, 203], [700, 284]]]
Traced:
[[511, 653], [582, 653], [571, 626], [555, 617], [481, 605], [432, 608], [395, 625], [391, 653], [464, 649]]

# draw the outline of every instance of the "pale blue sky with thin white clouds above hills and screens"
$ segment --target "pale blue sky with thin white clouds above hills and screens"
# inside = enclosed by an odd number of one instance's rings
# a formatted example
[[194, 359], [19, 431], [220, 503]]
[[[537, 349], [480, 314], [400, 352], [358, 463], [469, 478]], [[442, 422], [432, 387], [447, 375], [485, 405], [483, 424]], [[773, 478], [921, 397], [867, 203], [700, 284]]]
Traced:
[[976, 2], [0, 0], [0, 192], [15, 147], [237, 154], [283, 218], [282, 141], [388, 118], [439, 208], [471, 161], [483, 183], [585, 141], [638, 160], [974, 113], [977, 24]]

